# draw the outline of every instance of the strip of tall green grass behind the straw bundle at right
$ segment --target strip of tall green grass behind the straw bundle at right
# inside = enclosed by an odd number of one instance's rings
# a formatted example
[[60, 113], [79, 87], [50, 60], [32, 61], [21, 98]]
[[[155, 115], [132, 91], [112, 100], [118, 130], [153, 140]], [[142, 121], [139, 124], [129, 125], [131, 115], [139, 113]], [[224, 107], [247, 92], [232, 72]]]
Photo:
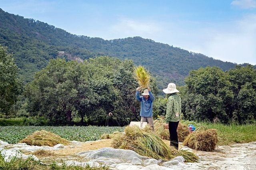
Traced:
[[256, 141], [256, 124], [238, 125], [231, 123], [224, 125], [222, 123], [194, 122], [184, 121], [186, 124], [193, 124], [197, 127], [206, 127], [206, 129], [217, 129], [218, 145], [231, 145], [234, 143], [247, 143]]

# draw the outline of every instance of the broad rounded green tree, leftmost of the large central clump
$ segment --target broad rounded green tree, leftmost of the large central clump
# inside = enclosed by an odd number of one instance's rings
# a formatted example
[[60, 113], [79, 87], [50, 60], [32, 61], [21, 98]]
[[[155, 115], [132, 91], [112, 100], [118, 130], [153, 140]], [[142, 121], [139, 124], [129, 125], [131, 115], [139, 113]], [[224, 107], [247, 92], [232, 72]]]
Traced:
[[30, 112], [44, 115], [52, 124], [70, 123], [79, 100], [79, 66], [76, 61], [57, 59], [36, 73], [35, 79], [26, 84]]

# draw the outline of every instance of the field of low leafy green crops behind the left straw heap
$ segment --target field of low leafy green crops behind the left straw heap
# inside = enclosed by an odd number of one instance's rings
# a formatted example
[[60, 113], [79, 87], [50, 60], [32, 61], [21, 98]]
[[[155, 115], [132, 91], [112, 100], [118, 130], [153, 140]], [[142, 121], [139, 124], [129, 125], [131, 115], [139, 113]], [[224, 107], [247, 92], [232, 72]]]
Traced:
[[98, 127], [98, 126], [0, 126], [0, 140], [15, 144], [31, 135], [35, 131], [50, 131], [70, 141], [96, 141], [103, 133], [124, 131], [124, 127]]

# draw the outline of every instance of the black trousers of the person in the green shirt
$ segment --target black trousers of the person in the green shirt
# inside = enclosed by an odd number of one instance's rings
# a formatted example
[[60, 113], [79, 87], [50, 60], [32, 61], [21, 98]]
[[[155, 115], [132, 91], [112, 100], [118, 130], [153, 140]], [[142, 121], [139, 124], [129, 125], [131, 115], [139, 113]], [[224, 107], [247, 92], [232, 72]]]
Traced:
[[175, 147], [177, 150], [179, 149], [179, 142], [178, 142], [178, 128], [179, 121], [169, 121], [169, 132], [170, 132], [170, 146]]

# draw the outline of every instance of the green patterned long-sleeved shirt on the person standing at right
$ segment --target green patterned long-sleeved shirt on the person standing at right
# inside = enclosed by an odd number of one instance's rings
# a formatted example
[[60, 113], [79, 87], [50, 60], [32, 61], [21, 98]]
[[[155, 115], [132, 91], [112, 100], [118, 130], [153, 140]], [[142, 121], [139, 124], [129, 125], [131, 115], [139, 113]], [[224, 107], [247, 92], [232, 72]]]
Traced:
[[169, 123], [169, 121], [180, 121], [181, 98], [176, 93], [170, 95], [166, 106], [166, 123]]

